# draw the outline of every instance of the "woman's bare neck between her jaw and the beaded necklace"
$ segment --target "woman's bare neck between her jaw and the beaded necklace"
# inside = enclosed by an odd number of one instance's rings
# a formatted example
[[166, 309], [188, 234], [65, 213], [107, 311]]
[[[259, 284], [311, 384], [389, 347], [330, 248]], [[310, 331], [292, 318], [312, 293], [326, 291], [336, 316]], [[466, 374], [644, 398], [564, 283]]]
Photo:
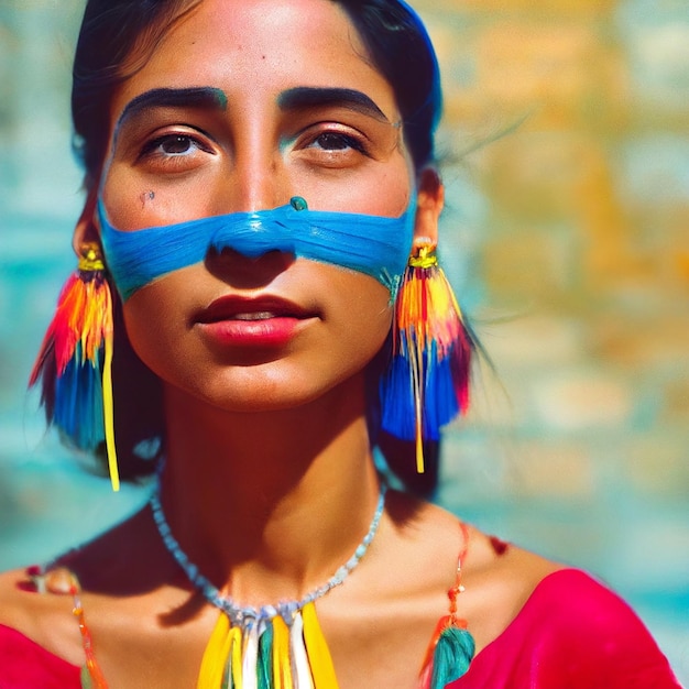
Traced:
[[316, 402], [229, 413], [166, 391], [162, 502], [182, 548], [218, 588], [263, 604], [322, 583], [378, 501], [362, 378]]

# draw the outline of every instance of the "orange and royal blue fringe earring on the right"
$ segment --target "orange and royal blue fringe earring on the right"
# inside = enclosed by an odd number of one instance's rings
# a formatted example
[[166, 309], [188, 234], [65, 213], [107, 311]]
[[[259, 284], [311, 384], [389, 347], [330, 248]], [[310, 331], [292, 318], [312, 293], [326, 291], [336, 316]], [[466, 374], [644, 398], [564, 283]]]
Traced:
[[438, 265], [435, 245], [415, 248], [395, 299], [393, 350], [381, 381], [382, 427], [416, 442], [424, 472], [424, 440], [469, 406], [475, 340]]

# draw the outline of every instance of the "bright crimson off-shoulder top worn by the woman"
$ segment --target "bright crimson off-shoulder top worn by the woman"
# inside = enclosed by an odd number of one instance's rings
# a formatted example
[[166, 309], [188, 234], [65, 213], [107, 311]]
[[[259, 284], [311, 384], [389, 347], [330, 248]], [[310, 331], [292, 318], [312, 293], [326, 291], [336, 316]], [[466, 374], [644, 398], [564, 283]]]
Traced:
[[[80, 668], [0, 625], [0, 689], [80, 689]], [[448, 689], [681, 689], [641, 620], [588, 575], [546, 577]]]

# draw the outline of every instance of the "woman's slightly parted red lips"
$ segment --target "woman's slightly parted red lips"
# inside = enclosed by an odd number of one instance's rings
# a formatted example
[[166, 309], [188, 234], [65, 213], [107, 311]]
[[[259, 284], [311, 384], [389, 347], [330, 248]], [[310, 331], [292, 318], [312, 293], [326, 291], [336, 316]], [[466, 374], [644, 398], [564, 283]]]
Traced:
[[317, 314], [273, 296], [227, 296], [212, 302], [195, 322], [223, 347], [283, 347]]

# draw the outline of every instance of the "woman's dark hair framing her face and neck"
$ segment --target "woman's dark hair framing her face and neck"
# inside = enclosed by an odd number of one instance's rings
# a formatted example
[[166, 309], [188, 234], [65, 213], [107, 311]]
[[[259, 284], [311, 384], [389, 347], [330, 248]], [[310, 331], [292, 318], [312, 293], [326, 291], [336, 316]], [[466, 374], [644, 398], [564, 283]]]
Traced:
[[[392, 86], [402, 114], [405, 142], [419, 171], [434, 160], [434, 135], [441, 108], [438, 63], [422, 20], [402, 0], [331, 1], [343, 9], [357, 30], [368, 52], [362, 57], [371, 61]], [[85, 186], [91, 193], [108, 150], [116, 88], [146, 64], [171, 26], [199, 2], [201, 0], [88, 0], [74, 61], [72, 116], [74, 150], [85, 168]], [[129, 344], [121, 306], [116, 309], [119, 322], [113, 385], [118, 455], [122, 478], [134, 479], [153, 470], [152, 462], [147, 461], [150, 457], [141, 459], [136, 448], [143, 444], [151, 450], [153, 446], [147, 441], [160, 436], [162, 400], [160, 382]], [[385, 445], [384, 437], [378, 439]], [[406, 460], [411, 452], [403, 448], [404, 445], [395, 444], [391, 458], [404, 455], [401, 459]], [[155, 451], [147, 453], [156, 455]], [[429, 455], [434, 466], [437, 448], [430, 448]], [[427, 477], [433, 484], [434, 475]], [[412, 478], [403, 480], [414, 488]], [[416, 488], [422, 486], [419, 483]]]

